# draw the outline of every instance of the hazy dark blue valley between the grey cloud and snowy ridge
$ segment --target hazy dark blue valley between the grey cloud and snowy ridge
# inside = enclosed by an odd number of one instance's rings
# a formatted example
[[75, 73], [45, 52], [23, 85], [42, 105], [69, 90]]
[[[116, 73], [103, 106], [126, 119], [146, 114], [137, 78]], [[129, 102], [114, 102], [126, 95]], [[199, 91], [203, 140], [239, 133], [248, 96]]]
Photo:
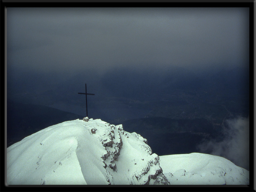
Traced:
[[150, 78], [149, 72], [116, 69], [103, 76], [80, 73], [59, 83], [47, 84], [51, 78], [47, 79], [40, 89], [31, 84], [28, 89], [18, 88], [15, 94], [11, 90], [7, 146], [53, 124], [85, 117], [85, 96], [77, 94], [84, 92], [82, 79], [87, 92], [95, 94], [87, 98], [89, 118], [123, 124], [127, 132], [146, 138], [158, 155], [213, 153], [213, 145], [200, 146], [226, 140], [227, 130], [233, 129], [228, 120], [249, 116], [246, 70], [202, 75], [173, 68]]

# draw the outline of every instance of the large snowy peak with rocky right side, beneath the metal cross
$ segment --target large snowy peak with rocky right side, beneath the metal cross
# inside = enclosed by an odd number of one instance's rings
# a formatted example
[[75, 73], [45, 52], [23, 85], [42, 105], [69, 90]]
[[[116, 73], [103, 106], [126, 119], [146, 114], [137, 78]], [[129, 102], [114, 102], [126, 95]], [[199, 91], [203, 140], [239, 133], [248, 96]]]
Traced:
[[169, 184], [146, 143], [100, 119], [53, 125], [7, 148], [7, 185]]

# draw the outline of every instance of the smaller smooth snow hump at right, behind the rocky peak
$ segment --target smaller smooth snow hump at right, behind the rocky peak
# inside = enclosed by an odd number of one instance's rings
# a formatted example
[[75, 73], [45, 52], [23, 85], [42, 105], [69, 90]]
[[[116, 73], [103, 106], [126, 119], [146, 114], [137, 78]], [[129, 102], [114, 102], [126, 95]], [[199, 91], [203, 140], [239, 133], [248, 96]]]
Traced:
[[249, 185], [249, 171], [220, 156], [160, 156], [160, 166], [171, 185]]

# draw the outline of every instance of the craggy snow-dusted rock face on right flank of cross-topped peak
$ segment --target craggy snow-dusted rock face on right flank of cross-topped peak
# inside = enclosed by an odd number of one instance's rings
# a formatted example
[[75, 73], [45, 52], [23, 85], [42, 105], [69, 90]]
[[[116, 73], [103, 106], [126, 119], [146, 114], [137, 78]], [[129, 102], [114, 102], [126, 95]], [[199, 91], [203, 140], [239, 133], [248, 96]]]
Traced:
[[[159, 165], [159, 156], [152, 153], [146, 139], [135, 132], [125, 132], [122, 125], [103, 123], [104, 126], [101, 126], [100, 129], [92, 128], [91, 132], [105, 147], [106, 152], [101, 158], [108, 175], [112, 174], [112, 171], [118, 172], [119, 167], [123, 166], [121, 163], [126, 161], [129, 184], [169, 184]], [[122, 150], [123, 140], [127, 145], [127, 151]], [[129, 148], [127, 148], [128, 146]], [[118, 163], [120, 155], [125, 156], [125, 159], [123, 158], [122, 162]], [[122, 169], [124, 170], [124, 168]], [[109, 183], [117, 184], [115, 179], [111, 180], [109, 176], [107, 178]]]

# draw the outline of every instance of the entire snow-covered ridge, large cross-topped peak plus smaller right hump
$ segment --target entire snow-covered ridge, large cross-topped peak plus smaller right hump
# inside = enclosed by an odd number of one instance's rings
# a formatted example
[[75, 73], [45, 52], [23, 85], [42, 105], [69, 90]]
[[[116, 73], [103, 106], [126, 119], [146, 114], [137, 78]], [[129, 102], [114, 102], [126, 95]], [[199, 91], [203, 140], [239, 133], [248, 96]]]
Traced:
[[249, 171], [207, 154], [157, 156], [139, 134], [67, 121], [7, 148], [7, 185], [249, 185]]

